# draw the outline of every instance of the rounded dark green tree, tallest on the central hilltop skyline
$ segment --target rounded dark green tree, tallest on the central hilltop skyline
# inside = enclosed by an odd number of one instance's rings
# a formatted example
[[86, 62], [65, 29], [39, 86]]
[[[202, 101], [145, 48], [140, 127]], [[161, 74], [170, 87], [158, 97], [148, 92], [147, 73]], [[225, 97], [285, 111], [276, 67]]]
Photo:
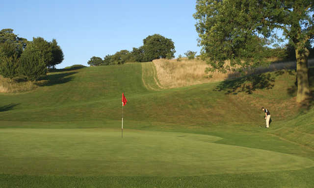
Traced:
[[144, 61], [159, 58], [174, 58], [176, 52], [174, 42], [159, 34], [154, 34], [143, 39]]

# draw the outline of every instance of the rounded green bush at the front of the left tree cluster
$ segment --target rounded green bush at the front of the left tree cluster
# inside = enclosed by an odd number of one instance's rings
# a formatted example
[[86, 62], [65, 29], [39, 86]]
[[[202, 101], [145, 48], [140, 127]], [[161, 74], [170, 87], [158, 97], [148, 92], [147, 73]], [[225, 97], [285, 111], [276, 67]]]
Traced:
[[35, 81], [47, 72], [42, 51], [32, 43], [28, 44], [20, 58], [19, 73], [29, 81]]

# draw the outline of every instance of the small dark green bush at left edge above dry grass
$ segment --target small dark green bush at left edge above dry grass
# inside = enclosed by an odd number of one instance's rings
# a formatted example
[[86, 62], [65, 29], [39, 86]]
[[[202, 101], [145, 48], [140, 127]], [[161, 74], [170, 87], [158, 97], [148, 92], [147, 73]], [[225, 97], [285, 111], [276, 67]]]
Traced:
[[19, 59], [17, 55], [0, 57], [0, 74], [5, 78], [14, 78], [18, 73]]

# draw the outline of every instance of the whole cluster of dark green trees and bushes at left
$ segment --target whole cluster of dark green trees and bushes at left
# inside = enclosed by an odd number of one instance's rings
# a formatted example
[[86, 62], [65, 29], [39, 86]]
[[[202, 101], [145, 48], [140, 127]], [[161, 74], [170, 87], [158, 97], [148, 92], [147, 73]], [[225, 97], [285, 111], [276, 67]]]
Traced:
[[0, 31], [0, 74], [3, 77], [35, 81], [63, 59], [63, 51], [55, 39], [48, 42], [36, 37], [27, 41], [14, 34], [13, 29]]

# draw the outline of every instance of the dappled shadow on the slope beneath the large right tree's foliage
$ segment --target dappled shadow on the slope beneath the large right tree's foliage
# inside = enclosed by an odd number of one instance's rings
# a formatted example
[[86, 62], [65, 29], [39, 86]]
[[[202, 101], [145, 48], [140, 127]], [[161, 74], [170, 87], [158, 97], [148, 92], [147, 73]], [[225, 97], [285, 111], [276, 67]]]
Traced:
[[[283, 73], [284, 71], [278, 71], [278, 74]], [[258, 89], [272, 89], [274, 87], [274, 81], [275, 78], [272, 77], [270, 73], [249, 75], [233, 80], [227, 79], [216, 86], [214, 91], [226, 91], [225, 94], [238, 94], [242, 92], [253, 94], [253, 92]]]

